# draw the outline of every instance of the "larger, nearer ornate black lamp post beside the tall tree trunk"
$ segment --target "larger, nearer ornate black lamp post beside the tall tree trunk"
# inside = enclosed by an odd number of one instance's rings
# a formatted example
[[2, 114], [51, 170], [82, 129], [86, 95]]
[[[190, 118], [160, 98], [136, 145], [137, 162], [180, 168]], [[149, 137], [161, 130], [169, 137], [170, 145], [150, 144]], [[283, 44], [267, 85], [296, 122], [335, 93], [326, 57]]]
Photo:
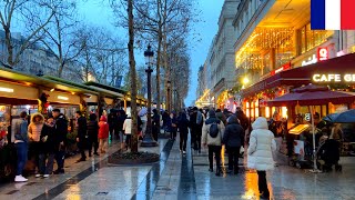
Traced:
[[149, 44], [148, 49], [144, 51], [145, 63], [148, 64], [146, 72], [146, 83], [148, 83], [148, 116], [146, 116], [146, 129], [143, 137], [141, 147], [156, 147], [158, 143], [152, 137], [152, 89], [151, 89], [151, 74], [153, 69], [151, 64], [153, 63], [154, 52], [151, 50], [152, 47]]

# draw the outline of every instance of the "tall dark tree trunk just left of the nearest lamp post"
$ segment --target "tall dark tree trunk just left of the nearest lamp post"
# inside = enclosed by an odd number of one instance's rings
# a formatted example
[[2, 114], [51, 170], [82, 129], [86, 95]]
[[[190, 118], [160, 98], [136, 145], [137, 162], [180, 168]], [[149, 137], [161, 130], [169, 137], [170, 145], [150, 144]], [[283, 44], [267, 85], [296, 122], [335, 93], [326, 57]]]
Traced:
[[138, 126], [136, 126], [136, 72], [134, 60], [134, 27], [133, 27], [133, 0], [128, 0], [128, 16], [129, 16], [129, 57], [130, 57], [130, 71], [131, 71], [131, 117], [132, 117], [132, 139], [131, 151], [138, 152]]

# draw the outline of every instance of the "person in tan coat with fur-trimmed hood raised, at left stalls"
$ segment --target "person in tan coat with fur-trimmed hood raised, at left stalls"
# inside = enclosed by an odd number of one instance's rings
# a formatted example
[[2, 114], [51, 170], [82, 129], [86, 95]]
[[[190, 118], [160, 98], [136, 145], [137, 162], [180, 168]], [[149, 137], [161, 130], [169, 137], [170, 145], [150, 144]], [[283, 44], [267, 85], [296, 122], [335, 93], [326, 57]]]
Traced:
[[36, 178], [41, 177], [39, 168], [39, 154], [41, 151], [41, 131], [44, 126], [44, 117], [41, 113], [34, 113], [31, 117], [31, 123], [29, 124], [28, 133], [30, 139], [30, 154], [34, 157], [34, 163], [37, 167]]

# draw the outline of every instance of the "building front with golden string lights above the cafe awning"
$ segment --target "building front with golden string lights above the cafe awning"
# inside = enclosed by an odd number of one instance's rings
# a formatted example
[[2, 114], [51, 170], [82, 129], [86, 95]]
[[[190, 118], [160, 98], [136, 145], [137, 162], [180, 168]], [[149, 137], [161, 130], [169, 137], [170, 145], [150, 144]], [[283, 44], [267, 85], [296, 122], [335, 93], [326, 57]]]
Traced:
[[[270, 118], [277, 109], [287, 118], [286, 108], [268, 108], [265, 102], [312, 82], [302, 74], [286, 81], [283, 72], [355, 52], [355, 31], [311, 30], [311, 0], [243, 0], [233, 26], [237, 83], [252, 120]], [[334, 108], [320, 107], [317, 112]]]

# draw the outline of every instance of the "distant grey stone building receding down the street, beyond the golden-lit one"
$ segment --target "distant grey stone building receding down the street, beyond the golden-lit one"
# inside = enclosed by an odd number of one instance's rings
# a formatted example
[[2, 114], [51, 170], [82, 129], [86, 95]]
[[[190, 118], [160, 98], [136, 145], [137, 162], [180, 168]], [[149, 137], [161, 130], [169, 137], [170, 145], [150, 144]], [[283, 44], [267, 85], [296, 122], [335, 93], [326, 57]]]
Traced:
[[[229, 99], [229, 90], [235, 84], [234, 34], [233, 19], [240, 0], [225, 0], [219, 19], [219, 31], [215, 34], [210, 51], [201, 71], [197, 101], [210, 101], [209, 106], [223, 108]], [[200, 73], [199, 73], [200, 76]], [[210, 86], [209, 86], [210, 84]]]

